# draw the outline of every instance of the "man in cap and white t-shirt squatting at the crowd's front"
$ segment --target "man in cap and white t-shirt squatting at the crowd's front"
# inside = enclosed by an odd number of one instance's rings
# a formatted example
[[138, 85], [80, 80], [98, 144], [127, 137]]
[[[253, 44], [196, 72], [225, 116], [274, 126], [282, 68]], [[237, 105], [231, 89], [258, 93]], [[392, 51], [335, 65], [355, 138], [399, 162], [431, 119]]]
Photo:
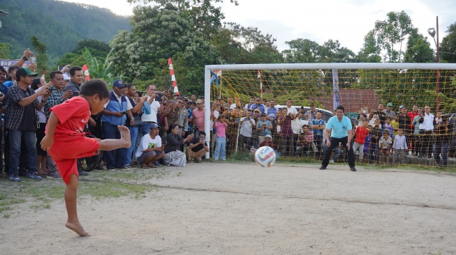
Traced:
[[136, 157], [141, 167], [156, 168], [157, 165], [154, 163], [158, 162], [165, 155], [163, 152], [165, 145], [166, 143], [162, 144], [161, 137], [159, 136], [159, 125], [151, 123], [149, 125], [149, 134], [142, 136], [138, 150], [136, 150]]

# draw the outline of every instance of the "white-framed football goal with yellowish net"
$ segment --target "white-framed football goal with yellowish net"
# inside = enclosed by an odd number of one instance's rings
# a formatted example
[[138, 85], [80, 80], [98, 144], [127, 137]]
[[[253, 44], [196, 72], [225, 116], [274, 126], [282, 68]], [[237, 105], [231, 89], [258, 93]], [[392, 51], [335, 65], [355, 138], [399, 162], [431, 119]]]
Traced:
[[[357, 163], [438, 166], [443, 164], [441, 156], [448, 148], [450, 158], [445, 164], [452, 165], [456, 145], [455, 70], [456, 64], [449, 63], [207, 65], [205, 130], [212, 129], [214, 117], [226, 118], [228, 157], [251, 153], [270, 134], [282, 158], [316, 161], [325, 151], [324, 123], [342, 105], [351, 119], [353, 133], [367, 121], [369, 134], [357, 134], [358, 141], [365, 141], [364, 148], [355, 152]], [[288, 111], [297, 113], [290, 127], [281, 120], [284, 107], [285, 116]], [[425, 116], [430, 112], [436, 118], [431, 128], [420, 126], [425, 107], [430, 110]], [[272, 127], [262, 121], [263, 113]], [[265, 122], [267, 126], [263, 127]], [[399, 130], [406, 138], [404, 152], [392, 149], [397, 146]], [[386, 137], [388, 144], [381, 142], [385, 131], [390, 133], [390, 145]], [[215, 132], [210, 139], [213, 151]], [[334, 150], [331, 159], [344, 162], [344, 148]]]

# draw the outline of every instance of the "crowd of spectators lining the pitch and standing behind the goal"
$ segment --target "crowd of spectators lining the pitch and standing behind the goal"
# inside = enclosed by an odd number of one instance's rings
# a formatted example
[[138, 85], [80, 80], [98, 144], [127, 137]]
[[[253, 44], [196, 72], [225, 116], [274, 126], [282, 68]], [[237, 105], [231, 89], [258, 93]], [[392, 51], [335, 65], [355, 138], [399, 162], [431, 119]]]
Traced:
[[[52, 157], [39, 144], [52, 107], [78, 96], [84, 80], [81, 68], [66, 66], [51, 72], [47, 83], [43, 77], [36, 78], [36, 65], [21, 67], [30, 56], [27, 49], [8, 72], [0, 66], [0, 139], [4, 139], [0, 166], [13, 181], [20, 181], [20, 176], [61, 178]], [[275, 100], [260, 97], [251, 97], [245, 105], [239, 98], [218, 98], [211, 102], [209, 130], [205, 130], [204, 103], [204, 97], [159, 92], [152, 84], [143, 93], [134, 84], [116, 80], [109, 102], [91, 116], [85, 131], [100, 139], [119, 139], [117, 125], [126, 125], [131, 147], [102, 153], [96, 169], [184, 167], [191, 161], [201, 163], [207, 152], [214, 160], [226, 160], [233, 153], [251, 153], [261, 146], [274, 148], [282, 157], [321, 159], [325, 152], [326, 123], [313, 103], [304, 111], [293, 107], [291, 99], [279, 109]], [[412, 155], [447, 166], [453, 124], [440, 112], [434, 116], [429, 106], [411, 108], [400, 106], [395, 112], [388, 103], [386, 109], [383, 104], [370, 111], [360, 109], [352, 139], [360, 162], [404, 164], [406, 155]], [[334, 148], [332, 161], [345, 157], [341, 146]]]

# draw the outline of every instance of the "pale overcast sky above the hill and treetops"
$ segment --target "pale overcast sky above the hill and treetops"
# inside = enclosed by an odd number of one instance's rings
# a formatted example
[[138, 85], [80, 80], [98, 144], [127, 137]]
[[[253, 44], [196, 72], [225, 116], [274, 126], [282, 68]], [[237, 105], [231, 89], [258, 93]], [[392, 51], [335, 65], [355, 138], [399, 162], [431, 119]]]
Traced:
[[[64, 0], [108, 8], [119, 15], [132, 15], [133, 6], [126, 0]], [[456, 22], [456, 0], [237, 0], [235, 6], [225, 0], [222, 12], [225, 22], [256, 26], [277, 39], [279, 50], [288, 49], [286, 41], [296, 38], [314, 40], [319, 44], [328, 39], [339, 40], [341, 46], [358, 53], [364, 36], [374, 28], [376, 20], [385, 20], [390, 11], [405, 12], [431, 42], [427, 29], [436, 27], [439, 16], [439, 41], [450, 24]]]

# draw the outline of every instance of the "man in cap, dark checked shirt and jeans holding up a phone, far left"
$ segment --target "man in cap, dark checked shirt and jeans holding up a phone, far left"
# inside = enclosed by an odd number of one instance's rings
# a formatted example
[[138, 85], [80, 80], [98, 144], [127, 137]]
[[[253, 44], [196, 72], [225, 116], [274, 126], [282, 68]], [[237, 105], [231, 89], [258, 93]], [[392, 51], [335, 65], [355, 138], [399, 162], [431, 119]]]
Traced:
[[[16, 71], [17, 84], [8, 89], [9, 105], [6, 108], [5, 127], [8, 129], [8, 139], [10, 146], [9, 171], [10, 180], [20, 182], [19, 157], [21, 153], [21, 142], [27, 148], [27, 163], [29, 165], [29, 178], [41, 180], [37, 174], [36, 162], [36, 134], [35, 134], [35, 109], [40, 111], [47, 100], [47, 88], [50, 84], [35, 93], [29, 85], [38, 74], [31, 72], [29, 68], [19, 68]], [[41, 102], [38, 96], [42, 95]]]

